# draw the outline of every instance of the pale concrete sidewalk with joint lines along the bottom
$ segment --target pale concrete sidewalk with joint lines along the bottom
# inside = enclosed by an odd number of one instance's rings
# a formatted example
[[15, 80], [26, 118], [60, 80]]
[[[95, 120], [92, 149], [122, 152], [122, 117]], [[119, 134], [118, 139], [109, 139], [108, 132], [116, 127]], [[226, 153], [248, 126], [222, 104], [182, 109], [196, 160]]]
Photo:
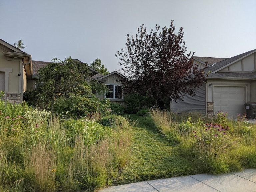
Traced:
[[256, 192], [256, 169], [222, 175], [199, 174], [131, 183], [99, 192]]

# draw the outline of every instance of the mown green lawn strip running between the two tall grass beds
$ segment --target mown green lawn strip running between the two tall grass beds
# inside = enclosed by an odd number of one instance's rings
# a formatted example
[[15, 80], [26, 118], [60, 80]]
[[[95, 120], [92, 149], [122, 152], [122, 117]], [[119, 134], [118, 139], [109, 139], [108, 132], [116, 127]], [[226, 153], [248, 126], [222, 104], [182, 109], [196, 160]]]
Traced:
[[121, 171], [117, 184], [198, 174], [195, 166], [180, 155], [178, 145], [171, 143], [147, 124], [146, 117], [127, 114], [136, 120], [129, 161]]

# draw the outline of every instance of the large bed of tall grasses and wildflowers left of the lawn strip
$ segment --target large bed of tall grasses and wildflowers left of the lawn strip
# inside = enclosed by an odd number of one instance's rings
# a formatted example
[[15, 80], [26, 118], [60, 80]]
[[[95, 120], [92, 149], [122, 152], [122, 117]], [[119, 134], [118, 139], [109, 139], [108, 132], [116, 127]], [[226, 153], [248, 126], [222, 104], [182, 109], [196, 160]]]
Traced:
[[26, 104], [0, 109], [0, 191], [94, 191], [129, 158], [133, 124], [124, 118], [108, 127]]

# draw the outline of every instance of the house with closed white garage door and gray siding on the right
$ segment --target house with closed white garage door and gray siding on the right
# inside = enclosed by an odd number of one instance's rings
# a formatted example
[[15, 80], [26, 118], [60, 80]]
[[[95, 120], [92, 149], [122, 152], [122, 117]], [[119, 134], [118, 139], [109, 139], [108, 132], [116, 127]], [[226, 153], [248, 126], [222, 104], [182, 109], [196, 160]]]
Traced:
[[245, 113], [244, 103], [256, 102], [256, 49], [231, 58], [193, 57], [209, 73], [194, 97], [171, 103], [172, 112], [197, 111], [208, 117], [222, 110], [228, 118]]

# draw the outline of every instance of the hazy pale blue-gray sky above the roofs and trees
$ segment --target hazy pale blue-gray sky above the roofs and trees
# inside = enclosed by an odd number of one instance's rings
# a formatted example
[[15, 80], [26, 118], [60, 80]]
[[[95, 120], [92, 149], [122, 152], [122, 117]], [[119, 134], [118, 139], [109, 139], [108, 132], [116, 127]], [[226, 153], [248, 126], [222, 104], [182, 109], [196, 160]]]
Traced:
[[32, 60], [71, 56], [90, 64], [99, 58], [121, 68], [117, 51], [142, 24], [175, 32], [195, 56], [232, 56], [256, 49], [255, 0], [0, 0], [0, 39], [22, 39]]

